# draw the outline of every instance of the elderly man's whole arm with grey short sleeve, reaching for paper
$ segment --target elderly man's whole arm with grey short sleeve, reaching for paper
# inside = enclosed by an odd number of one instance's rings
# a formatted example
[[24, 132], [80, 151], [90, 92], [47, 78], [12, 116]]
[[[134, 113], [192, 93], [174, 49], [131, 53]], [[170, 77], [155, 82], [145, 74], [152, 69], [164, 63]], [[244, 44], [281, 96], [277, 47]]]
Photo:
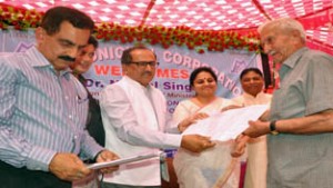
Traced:
[[[296, 90], [305, 101], [304, 117], [292, 119], [278, 119], [275, 129], [278, 132], [294, 135], [314, 135], [333, 131], [332, 123], [332, 58], [323, 53], [314, 53], [304, 61], [306, 73]], [[296, 92], [296, 91], [294, 91]], [[285, 98], [285, 102], [289, 102]], [[282, 112], [282, 111], [280, 111]], [[270, 132], [271, 122], [251, 121], [250, 128], [244, 132], [251, 137], [258, 137]], [[256, 131], [256, 132], [255, 132]]]

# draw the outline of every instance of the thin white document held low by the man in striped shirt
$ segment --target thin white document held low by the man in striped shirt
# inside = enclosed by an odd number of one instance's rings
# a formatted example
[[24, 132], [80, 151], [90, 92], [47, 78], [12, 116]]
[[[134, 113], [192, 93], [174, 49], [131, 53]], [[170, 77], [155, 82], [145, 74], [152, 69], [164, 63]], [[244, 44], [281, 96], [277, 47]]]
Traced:
[[113, 167], [113, 166], [134, 162], [134, 161], [139, 161], [139, 160], [150, 159], [150, 158], [154, 158], [154, 157], [160, 157], [160, 154], [154, 152], [154, 154], [133, 156], [133, 157], [121, 158], [121, 159], [107, 161], [107, 162], [92, 164], [92, 165], [88, 165], [87, 167], [90, 169], [101, 169], [104, 167]]

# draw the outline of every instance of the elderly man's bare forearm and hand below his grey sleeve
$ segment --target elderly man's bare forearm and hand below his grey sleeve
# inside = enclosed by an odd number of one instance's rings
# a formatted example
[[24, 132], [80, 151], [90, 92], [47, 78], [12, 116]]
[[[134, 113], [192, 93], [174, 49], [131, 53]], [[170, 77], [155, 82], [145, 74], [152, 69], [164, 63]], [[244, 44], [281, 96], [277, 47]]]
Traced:
[[[259, 137], [270, 133], [270, 121], [250, 121], [250, 127], [244, 131], [244, 135], [250, 137]], [[283, 119], [275, 121], [275, 129], [280, 133], [293, 135], [315, 135], [333, 132], [333, 110], [325, 110], [315, 115]]]

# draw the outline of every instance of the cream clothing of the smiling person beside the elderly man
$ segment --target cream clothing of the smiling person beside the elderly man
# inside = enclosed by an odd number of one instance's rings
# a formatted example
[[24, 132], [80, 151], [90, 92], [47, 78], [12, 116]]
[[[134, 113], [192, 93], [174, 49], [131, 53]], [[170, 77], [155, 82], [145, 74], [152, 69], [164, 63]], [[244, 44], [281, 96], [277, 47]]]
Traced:
[[[232, 99], [238, 105], [252, 106], [270, 103], [272, 96], [260, 92], [255, 98], [246, 92]], [[266, 188], [268, 144], [266, 136], [251, 139], [248, 144], [248, 164], [244, 188]]]

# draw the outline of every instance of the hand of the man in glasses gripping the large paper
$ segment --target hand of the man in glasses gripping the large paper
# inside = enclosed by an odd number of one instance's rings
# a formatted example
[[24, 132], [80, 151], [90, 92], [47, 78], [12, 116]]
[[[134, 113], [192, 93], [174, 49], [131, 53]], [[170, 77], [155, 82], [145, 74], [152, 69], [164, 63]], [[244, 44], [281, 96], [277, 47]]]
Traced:
[[214, 146], [215, 144], [210, 140], [210, 137], [200, 135], [184, 135], [181, 141], [181, 147], [192, 152], [201, 152]]

